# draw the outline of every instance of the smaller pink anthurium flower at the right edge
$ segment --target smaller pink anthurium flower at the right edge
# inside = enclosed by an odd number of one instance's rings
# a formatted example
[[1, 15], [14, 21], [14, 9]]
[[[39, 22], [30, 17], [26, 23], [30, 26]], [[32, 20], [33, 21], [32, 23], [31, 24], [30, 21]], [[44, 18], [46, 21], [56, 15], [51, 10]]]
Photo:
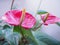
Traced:
[[45, 17], [46, 17], [46, 14], [41, 15], [41, 18], [42, 18], [42, 21], [43, 21], [44, 25], [54, 24], [54, 23], [60, 22], [60, 18], [58, 18], [58, 17], [56, 17], [52, 14], [49, 14], [47, 19], [44, 21]]

